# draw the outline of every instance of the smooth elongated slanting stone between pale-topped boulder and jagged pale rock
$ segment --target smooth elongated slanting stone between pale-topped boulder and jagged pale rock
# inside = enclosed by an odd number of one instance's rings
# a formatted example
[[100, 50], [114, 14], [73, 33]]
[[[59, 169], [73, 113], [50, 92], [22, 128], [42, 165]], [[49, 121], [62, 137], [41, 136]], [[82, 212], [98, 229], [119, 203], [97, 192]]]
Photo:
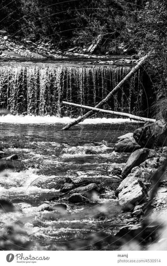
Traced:
[[128, 158], [128, 161], [126, 162], [125, 166], [122, 170], [122, 177], [126, 178], [127, 175], [131, 172], [132, 168], [135, 166], [140, 165], [147, 159], [147, 155], [149, 154], [149, 149], [143, 148], [138, 149], [134, 151]]

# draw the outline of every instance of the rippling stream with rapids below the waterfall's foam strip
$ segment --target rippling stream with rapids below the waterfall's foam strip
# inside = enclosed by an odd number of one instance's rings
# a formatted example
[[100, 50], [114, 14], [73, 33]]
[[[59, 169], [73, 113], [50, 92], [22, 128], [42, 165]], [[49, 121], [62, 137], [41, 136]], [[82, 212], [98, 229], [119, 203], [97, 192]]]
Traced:
[[[13, 225], [14, 231], [19, 225], [19, 236], [24, 240], [37, 241], [44, 247], [55, 243], [50, 249], [100, 249], [97, 239], [102, 239], [103, 234], [114, 234], [123, 225], [117, 211], [110, 218], [105, 216], [117, 208], [116, 200], [111, 197], [115, 186], [112, 177], [107, 177], [110, 189], [96, 198], [94, 204], [69, 204], [65, 196], [51, 205], [65, 203], [66, 211], [39, 212], [38, 206], [59, 194], [60, 180], [73, 176], [73, 171], [81, 177], [103, 182], [107, 180], [106, 174], [95, 170], [126, 161], [129, 154], [113, 152], [113, 145], [118, 136], [132, 132], [139, 124], [118, 124], [117, 121], [112, 119], [112, 123], [106, 124], [96, 123], [94, 119], [94, 123], [81, 123], [65, 132], [60, 131], [63, 123], [1, 123], [5, 153], [18, 154], [18, 160], [13, 161], [14, 172], [5, 171], [5, 176], [0, 177], [1, 198], [12, 201], [17, 211], [1, 211], [1, 222], [7, 227]], [[91, 154], [87, 154], [87, 150], [91, 150]], [[23, 228], [26, 236], [21, 231]], [[115, 244], [108, 246], [108, 240], [102, 242], [101, 248], [119, 248]], [[25, 243], [21, 247], [11, 244], [10, 248], [20, 250], [24, 246]]]

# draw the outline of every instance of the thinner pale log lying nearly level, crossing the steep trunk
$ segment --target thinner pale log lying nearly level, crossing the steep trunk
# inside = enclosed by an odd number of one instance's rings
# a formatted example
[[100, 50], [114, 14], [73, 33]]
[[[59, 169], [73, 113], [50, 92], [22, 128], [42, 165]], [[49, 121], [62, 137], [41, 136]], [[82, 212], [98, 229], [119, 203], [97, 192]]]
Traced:
[[104, 109], [99, 109], [99, 108], [90, 107], [90, 106], [86, 106], [86, 105], [71, 103], [71, 102], [64, 102], [63, 101], [62, 103], [68, 104], [68, 105], [73, 105], [73, 106], [76, 106], [76, 107], [89, 109], [89, 110], [92, 110], [94, 112], [102, 112], [102, 113], [113, 114], [113, 115], [117, 115], [117, 116], [128, 117], [130, 119], [138, 120], [138, 121], [142, 121], [142, 122], [155, 122], [155, 119], [151, 119], [151, 118], [147, 118], [147, 117], [139, 117], [139, 116], [128, 114], [128, 113], [104, 110]]

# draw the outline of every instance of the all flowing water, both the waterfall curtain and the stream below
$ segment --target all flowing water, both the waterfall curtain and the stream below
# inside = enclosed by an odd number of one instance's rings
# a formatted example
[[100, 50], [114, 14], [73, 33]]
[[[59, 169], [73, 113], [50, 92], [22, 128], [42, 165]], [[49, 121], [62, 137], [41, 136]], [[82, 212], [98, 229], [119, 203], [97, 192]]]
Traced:
[[[15, 114], [0, 117], [2, 147], [4, 157], [18, 155], [14, 170], [6, 168], [0, 176], [1, 199], [16, 207], [13, 212], [0, 210], [0, 227], [5, 225], [10, 236], [10, 243], [3, 240], [3, 249], [119, 248], [114, 243], [110, 246], [108, 239], [125, 221], [119, 217], [114, 198], [119, 180], [111, 171], [117, 164], [123, 166], [129, 154], [115, 153], [113, 146], [118, 136], [133, 132], [139, 124], [103, 117], [87, 119], [64, 132], [63, 123], [83, 110], [61, 106], [61, 100], [94, 106], [130, 70], [131, 66], [1, 64], [0, 107]], [[114, 95], [108, 103], [112, 110], [140, 114], [142, 75], [138, 71]], [[65, 178], [74, 176], [97, 180], [105, 191], [93, 195], [91, 204], [70, 204], [68, 195], [58, 196]], [[53, 210], [39, 211], [44, 202]], [[56, 204], [66, 204], [67, 210], [57, 211]], [[3, 239], [7, 235], [4, 232]], [[35, 244], [29, 246], [27, 241]]]

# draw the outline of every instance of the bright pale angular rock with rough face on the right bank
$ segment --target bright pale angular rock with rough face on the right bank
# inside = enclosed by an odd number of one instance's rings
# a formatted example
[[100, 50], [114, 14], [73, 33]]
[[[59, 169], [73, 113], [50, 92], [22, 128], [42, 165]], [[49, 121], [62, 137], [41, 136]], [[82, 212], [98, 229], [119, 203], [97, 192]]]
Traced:
[[130, 204], [136, 201], [142, 201], [146, 197], [144, 184], [138, 180], [131, 185], [124, 186], [123, 190], [118, 194], [119, 205], [124, 209], [129, 209]]

